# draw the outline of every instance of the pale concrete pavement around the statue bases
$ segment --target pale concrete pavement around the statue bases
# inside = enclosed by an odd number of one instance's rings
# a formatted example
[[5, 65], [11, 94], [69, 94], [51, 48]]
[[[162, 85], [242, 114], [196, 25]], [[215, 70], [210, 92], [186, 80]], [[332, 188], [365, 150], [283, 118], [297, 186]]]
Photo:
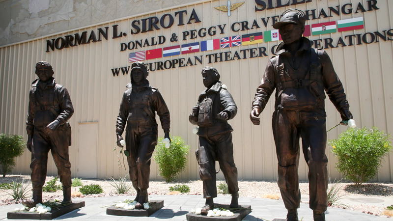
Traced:
[[[164, 200], [164, 207], [151, 215], [150, 217], [119, 217], [106, 215], [106, 208], [114, 205], [115, 202], [132, 199], [131, 196], [111, 196], [81, 198], [74, 201], [85, 201], [85, 207], [65, 214], [55, 220], [64, 221], [123, 221], [123, 220], [140, 220], [140, 221], [185, 221], [186, 214], [192, 210], [204, 205], [205, 200], [201, 195], [150, 195], [150, 200]], [[382, 200], [382, 201], [381, 201]], [[357, 203], [373, 205], [383, 204], [390, 206], [393, 204], [393, 197], [347, 197], [340, 200], [346, 205], [356, 205]], [[230, 195], [220, 195], [215, 198], [215, 203], [228, 204]], [[302, 202], [308, 202], [308, 196], [302, 196]], [[285, 219], [286, 209], [282, 200], [267, 198], [239, 197], [239, 204], [251, 205], [252, 212], [244, 219], [245, 221], [272, 221], [274, 219]], [[6, 205], [0, 207], [0, 220], [7, 220], [7, 212], [11, 212], [18, 205]], [[309, 204], [301, 203], [298, 210], [299, 220], [312, 221], [312, 210]], [[389, 221], [393, 220], [386, 217], [378, 217], [365, 214], [362, 212], [351, 211], [348, 209], [339, 209], [328, 207], [326, 213], [327, 221]]]

